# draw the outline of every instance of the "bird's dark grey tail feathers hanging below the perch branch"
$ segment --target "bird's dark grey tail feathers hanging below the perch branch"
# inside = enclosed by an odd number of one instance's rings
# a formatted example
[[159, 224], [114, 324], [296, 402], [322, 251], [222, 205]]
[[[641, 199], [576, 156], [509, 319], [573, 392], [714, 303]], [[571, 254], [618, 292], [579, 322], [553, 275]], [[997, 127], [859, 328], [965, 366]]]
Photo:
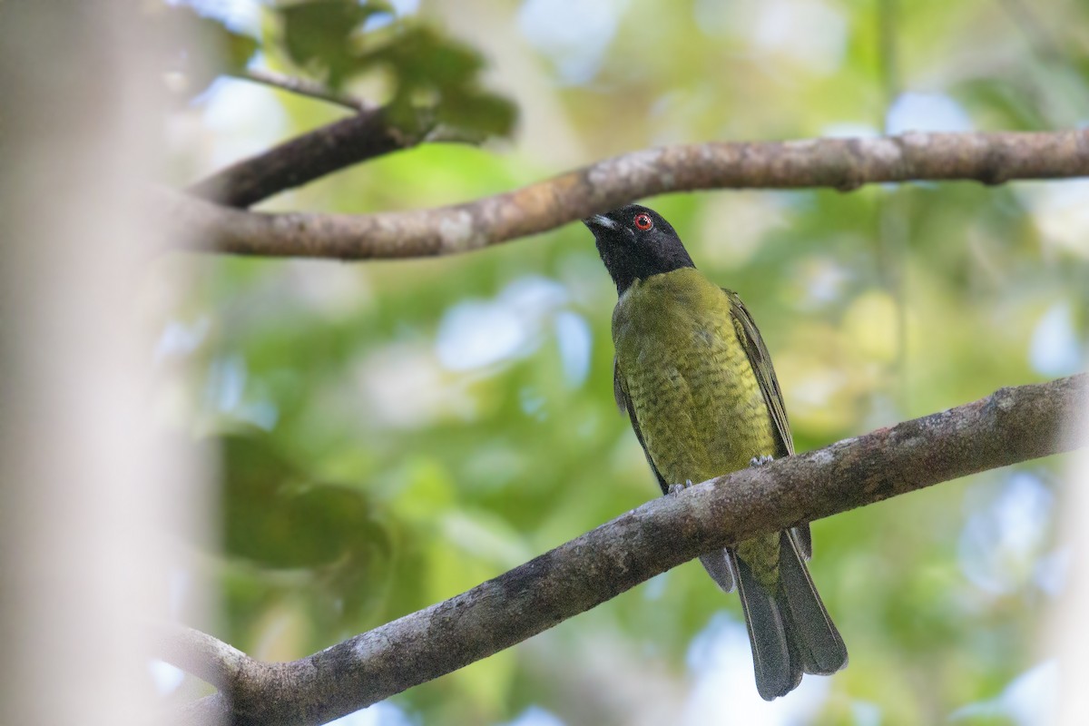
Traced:
[[779, 586], [761, 586], [727, 550], [745, 612], [760, 697], [770, 701], [794, 690], [803, 673], [829, 675], [847, 665], [847, 649], [813, 587], [794, 534], [780, 534]]

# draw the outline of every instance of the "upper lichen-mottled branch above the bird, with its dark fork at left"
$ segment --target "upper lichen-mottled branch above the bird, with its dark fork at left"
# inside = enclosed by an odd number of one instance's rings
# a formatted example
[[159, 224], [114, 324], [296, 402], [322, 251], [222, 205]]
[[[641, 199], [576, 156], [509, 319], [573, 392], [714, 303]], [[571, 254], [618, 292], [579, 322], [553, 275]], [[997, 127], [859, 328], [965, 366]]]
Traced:
[[[374, 123], [376, 134], [390, 133], [388, 128], [381, 131], [384, 125], [380, 120], [366, 119], [364, 114], [340, 123], [345, 128]], [[302, 144], [304, 138], [289, 141], [284, 147], [298, 143], [301, 147], [317, 148], [278, 153], [282, 159], [273, 164], [273, 171], [261, 171], [257, 164], [247, 170], [229, 169], [198, 185], [196, 192], [245, 206], [270, 188], [282, 188], [284, 177], [291, 176], [293, 185], [301, 184], [320, 175], [319, 171], [326, 173], [346, 165], [338, 156], [341, 150], [328, 146], [333, 141]], [[367, 148], [390, 150], [408, 144], [390, 137]], [[350, 149], [347, 156], [364, 158], [363, 146]], [[286, 160], [307, 153], [318, 155], [322, 162], [315, 165], [311, 160], [304, 164], [306, 174], [298, 176], [298, 169]], [[1015, 179], [1086, 175], [1089, 175], [1089, 130], [910, 133], [868, 139], [668, 146], [607, 159], [505, 194], [418, 211], [367, 216], [266, 214], [227, 209], [175, 194], [167, 195], [170, 197], [167, 213], [174, 224], [191, 232], [191, 238], [201, 239], [201, 249], [209, 251], [372, 259], [479, 249], [666, 192], [822, 186], [848, 190], [878, 182], [975, 180], [1000, 184]], [[271, 176], [277, 181], [270, 181]], [[216, 183], [223, 183], [225, 190], [217, 196], [209, 188], [215, 187], [212, 182], [219, 177], [224, 179]]]

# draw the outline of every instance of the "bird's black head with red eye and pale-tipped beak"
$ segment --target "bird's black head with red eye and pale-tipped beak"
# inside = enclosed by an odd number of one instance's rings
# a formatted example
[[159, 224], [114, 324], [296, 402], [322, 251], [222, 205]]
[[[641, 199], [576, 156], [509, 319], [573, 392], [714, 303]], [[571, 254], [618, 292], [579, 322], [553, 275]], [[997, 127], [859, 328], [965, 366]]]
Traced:
[[594, 233], [601, 261], [621, 295], [636, 280], [696, 267], [673, 226], [646, 207], [628, 205], [587, 217], [583, 224]]

